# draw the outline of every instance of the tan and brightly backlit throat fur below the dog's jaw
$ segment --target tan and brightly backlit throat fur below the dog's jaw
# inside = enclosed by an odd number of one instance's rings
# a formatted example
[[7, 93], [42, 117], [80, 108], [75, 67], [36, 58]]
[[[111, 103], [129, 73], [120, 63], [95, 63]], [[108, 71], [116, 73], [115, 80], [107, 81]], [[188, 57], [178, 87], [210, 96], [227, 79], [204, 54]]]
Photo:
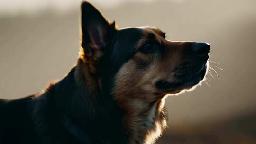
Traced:
[[124, 126], [127, 127], [129, 144], [154, 144], [166, 128], [165, 100], [145, 103], [141, 99], [125, 102]]

